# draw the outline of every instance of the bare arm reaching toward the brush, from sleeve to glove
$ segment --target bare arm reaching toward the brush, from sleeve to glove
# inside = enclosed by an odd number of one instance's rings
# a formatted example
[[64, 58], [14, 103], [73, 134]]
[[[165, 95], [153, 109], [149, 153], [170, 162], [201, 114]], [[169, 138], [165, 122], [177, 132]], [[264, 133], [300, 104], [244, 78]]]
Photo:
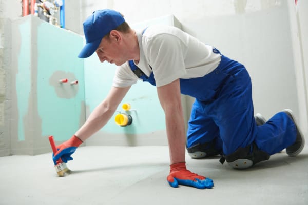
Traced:
[[85, 141], [95, 132], [99, 131], [112, 117], [122, 99], [130, 89], [112, 87], [107, 97], [90, 114], [85, 124], [75, 133], [82, 141]]

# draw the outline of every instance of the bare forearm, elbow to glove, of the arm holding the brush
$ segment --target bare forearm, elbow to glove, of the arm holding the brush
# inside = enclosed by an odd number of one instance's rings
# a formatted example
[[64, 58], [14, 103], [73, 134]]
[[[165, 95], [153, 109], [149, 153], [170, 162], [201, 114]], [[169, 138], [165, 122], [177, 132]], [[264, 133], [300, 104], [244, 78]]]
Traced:
[[108, 108], [103, 101], [93, 110], [85, 124], [75, 133], [75, 135], [82, 141], [85, 141], [95, 132], [104, 127], [113, 113], [114, 110]]

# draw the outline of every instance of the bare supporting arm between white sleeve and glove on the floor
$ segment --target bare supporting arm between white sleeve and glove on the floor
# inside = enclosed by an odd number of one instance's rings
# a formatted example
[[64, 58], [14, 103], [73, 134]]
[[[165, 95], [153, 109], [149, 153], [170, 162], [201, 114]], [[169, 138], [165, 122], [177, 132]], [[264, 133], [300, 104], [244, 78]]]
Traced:
[[157, 88], [158, 97], [165, 111], [170, 162], [185, 161], [185, 126], [181, 104], [180, 80]]

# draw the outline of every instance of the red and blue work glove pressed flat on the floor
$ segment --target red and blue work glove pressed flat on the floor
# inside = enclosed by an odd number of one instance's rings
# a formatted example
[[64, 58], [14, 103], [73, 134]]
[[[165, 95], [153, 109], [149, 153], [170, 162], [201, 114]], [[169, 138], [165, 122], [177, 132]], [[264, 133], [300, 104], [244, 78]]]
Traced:
[[212, 188], [214, 186], [213, 180], [198, 174], [192, 173], [186, 169], [185, 162], [174, 163], [170, 165], [170, 174], [167, 181], [171, 187], [178, 187], [179, 185], [186, 185], [198, 189]]

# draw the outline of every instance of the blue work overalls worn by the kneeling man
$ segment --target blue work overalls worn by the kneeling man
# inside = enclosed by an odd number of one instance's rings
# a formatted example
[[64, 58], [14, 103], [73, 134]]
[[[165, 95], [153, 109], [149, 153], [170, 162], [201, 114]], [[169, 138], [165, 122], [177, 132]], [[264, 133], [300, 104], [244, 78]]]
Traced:
[[[215, 48], [213, 52], [219, 53]], [[129, 65], [139, 78], [156, 86], [153, 72], [146, 76], [132, 60]], [[215, 141], [215, 149], [227, 156], [254, 144], [269, 158], [296, 139], [295, 124], [283, 112], [256, 125], [251, 78], [235, 60], [221, 55], [215, 70], [203, 77], [180, 79], [180, 87], [182, 94], [196, 98], [188, 122], [187, 147]]]

